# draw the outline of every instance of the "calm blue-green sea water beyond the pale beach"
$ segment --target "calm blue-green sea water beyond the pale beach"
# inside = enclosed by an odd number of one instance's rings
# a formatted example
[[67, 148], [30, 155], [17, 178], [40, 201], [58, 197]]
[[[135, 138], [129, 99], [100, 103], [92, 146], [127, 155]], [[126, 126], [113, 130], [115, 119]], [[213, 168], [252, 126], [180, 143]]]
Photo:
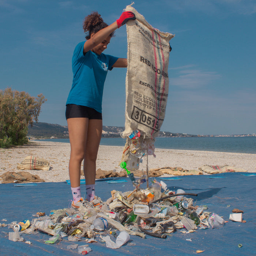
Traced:
[[[69, 143], [69, 139], [45, 139], [45, 141]], [[102, 138], [100, 144], [124, 146], [125, 142], [123, 138]], [[256, 137], [157, 137], [155, 147], [256, 154]]]

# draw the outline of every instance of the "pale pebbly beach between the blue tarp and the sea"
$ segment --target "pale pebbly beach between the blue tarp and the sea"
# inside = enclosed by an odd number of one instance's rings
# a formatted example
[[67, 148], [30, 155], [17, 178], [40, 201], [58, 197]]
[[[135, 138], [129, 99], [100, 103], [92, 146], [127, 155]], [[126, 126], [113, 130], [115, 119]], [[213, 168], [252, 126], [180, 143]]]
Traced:
[[[122, 152], [122, 146], [100, 145], [96, 168], [120, 172], [121, 168], [118, 164], [120, 163]], [[19, 172], [17, 165], [26, 156], [33, 155], [48, 160], [51, 168], [49, 171], [26, 170], [26, 172], [37, 174], [46, 182], [65, 181], [69, 179], [69, 154], [69, 143], [54, 141], [30, 141], [29, 144], [24, 146], [0, 148], [0, 175], [8, 171]], [[182, 167], [185, 170], [199, 170], [202, 165], [229, 165], [245, 169], [248, 172], [256, 172], [256, 154], [156, 148], [155, 155], [155, 158], [153, 156], [148, 157], [148, 169]], [[140, 164], [139, 169], [146, 170], [145, 160]]]

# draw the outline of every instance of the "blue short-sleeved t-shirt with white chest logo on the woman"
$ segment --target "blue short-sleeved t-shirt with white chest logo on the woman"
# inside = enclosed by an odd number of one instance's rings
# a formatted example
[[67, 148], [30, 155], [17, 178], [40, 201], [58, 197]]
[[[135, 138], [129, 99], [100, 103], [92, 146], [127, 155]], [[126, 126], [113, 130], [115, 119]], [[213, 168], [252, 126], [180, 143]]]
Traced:
[[117, 57], [91, 50], [83, 54], [84, 42], [80, 42], [73, 53], [73, 82], [67, 104], [76, 104], [102, 112], [103, 87], [108, 70], [117, 61]]

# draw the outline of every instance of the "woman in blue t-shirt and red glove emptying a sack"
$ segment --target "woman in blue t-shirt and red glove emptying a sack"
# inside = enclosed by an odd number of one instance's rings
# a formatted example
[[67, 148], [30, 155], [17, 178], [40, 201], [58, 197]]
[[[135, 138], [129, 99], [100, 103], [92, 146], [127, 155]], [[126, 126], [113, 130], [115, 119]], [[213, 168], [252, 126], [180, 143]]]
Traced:
[[86, 200], [95, 196], [96, 159], [102, 134], [102, 94], [108, 70], [127, 67], [127, 59], [102, 53], [113, 37], [114, 30], [128, 20], [135, 20], [132, 12], [123, 12], [111, 25], [103, 22], [98, 12], [86, 16], [84, 32], [89, 32], [87, 41], [79, 43], [72, 57], [73, 83], [66, 103], [71, 154], [69, 178], [73, 202], [78, 210], [84, 203], [80, 191], [80, 169], [86, 180]]

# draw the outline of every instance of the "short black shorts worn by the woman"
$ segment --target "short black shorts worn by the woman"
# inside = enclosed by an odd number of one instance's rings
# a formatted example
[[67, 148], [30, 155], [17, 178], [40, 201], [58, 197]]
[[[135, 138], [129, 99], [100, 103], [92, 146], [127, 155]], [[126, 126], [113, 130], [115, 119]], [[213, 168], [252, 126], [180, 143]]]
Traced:
[[66, 119], [76, 117], [102, 120], [102, 113], [99, 113], [95, 109], [86, 106], [68, 104], [66, 106]]

